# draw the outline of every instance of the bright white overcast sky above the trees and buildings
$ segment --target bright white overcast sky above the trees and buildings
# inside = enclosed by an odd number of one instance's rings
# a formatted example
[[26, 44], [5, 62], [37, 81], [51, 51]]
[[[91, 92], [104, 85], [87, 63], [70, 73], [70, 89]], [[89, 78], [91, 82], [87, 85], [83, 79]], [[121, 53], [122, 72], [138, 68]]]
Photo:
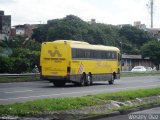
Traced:
[[[0, 10], [11, 15], [12, 26], [45, 24], [47, 20], [76, 15], [84, 21], [132, 24], [150, 27], [150, 0], [0, 0]], [[160, 0], [154, 0], [154, 28], [160, 28]]]

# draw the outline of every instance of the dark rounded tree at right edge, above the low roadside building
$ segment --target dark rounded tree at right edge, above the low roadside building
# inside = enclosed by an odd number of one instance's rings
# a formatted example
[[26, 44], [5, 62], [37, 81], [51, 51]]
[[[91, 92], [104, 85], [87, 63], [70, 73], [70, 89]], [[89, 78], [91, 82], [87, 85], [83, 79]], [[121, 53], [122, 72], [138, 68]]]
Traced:
[[145, 43], [141, 48], [141, 54], [143, 57], [149, 57], [157, 68], [159, 69], [160, 64], [160, 42], [157, 40], [149, 41]]

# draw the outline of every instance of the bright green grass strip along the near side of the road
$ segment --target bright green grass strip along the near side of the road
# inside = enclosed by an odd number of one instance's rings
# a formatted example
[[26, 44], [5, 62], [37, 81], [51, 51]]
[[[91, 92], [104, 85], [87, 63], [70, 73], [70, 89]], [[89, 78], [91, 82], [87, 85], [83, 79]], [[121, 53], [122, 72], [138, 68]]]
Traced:
[[74, 98], [42, 99], [25, 103], [0, 105], [0, 114], [1, 116], [36, 115], [59, 110], [69, 110], [87, 106], [103, 105], [109, 103], [111, 100], [126, 101], [154, 95], [160, 95], [160, 88], [120, 91]]

